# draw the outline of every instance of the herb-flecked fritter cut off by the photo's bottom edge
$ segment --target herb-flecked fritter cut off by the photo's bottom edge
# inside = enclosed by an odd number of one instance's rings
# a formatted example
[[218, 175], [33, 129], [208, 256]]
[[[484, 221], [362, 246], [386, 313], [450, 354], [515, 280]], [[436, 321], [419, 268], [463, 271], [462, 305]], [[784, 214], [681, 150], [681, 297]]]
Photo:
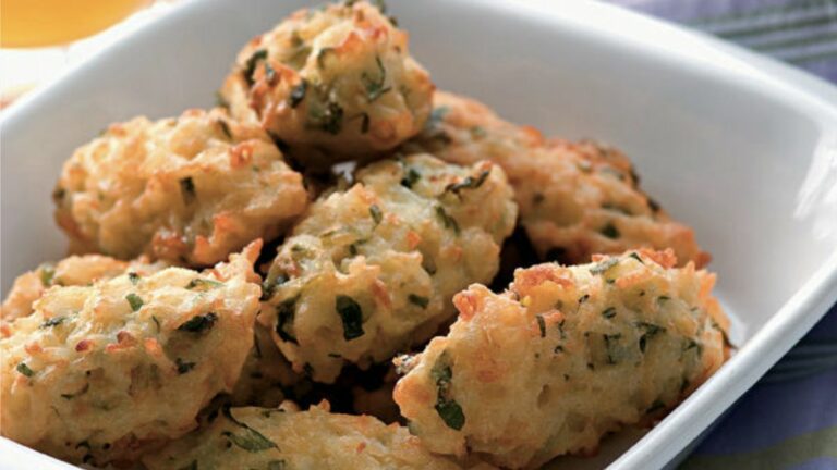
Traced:
[[163, 469], [458, 469], [407, 428], [327, 406], [225, 409], [198, 432], [144, 458]]

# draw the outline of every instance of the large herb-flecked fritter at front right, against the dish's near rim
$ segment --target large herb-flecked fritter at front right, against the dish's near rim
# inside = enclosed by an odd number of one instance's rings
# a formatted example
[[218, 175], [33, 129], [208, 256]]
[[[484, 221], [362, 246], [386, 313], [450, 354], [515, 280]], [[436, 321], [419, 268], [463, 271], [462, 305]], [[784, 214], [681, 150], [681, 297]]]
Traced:
[[715, 276], [670, 250], [521, 269], [500, 295], [473, 285], [459, 319], [416, 357], [395, 399], [432, 452], [508, 468], [595, 452], [650, 424], [725, 361]]

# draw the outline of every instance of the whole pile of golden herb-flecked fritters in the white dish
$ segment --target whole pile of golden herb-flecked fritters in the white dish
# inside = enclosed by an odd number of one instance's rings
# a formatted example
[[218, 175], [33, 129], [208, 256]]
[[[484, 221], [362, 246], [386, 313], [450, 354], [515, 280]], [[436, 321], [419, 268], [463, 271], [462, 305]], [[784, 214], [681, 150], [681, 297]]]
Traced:
[[0, 433], [88, 468], [535, 468], [726, 360], [628, 158], [437, 91], [386, 9], [301, 10], [220, 106], [111, 124], [0, 314]]

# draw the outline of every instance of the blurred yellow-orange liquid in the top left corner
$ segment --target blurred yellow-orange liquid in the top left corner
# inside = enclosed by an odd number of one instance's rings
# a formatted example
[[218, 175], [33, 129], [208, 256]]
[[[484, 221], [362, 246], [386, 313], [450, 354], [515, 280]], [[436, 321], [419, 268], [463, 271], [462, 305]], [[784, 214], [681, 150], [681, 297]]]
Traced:
[[0, 46], [58, 46], [96, 34], [150, 0], [0, 0]]

